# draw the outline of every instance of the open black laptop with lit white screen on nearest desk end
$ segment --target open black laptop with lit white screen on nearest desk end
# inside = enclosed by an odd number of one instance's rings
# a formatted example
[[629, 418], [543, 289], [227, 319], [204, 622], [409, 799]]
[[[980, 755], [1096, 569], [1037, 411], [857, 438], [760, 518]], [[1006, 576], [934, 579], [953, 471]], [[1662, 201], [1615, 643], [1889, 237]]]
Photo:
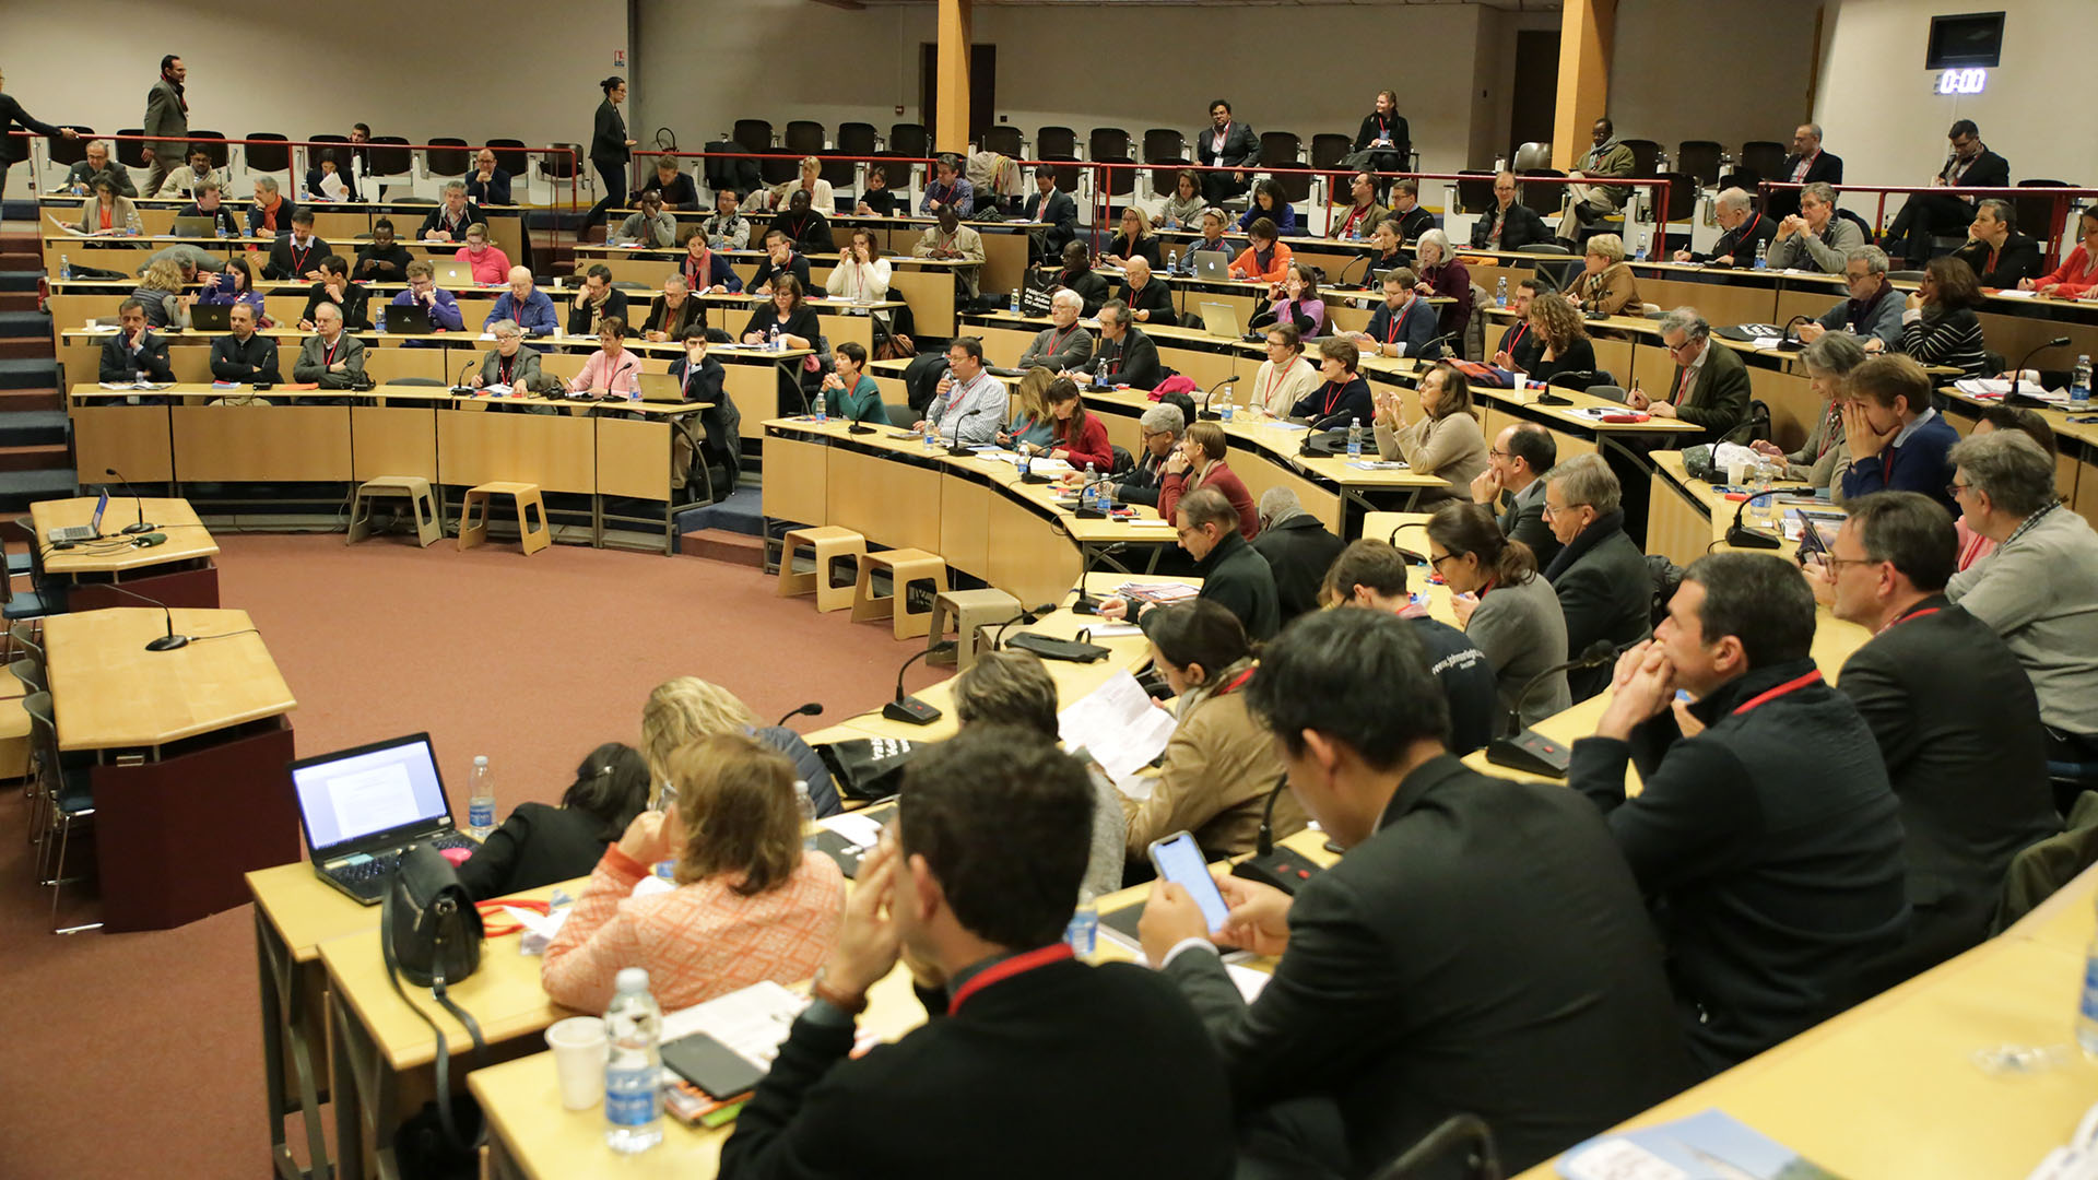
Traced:
[[378, 905], [409, 844], [472, 848], [451, 823], [428, 733], [292, 762], [298, 823], [313, 871]]

